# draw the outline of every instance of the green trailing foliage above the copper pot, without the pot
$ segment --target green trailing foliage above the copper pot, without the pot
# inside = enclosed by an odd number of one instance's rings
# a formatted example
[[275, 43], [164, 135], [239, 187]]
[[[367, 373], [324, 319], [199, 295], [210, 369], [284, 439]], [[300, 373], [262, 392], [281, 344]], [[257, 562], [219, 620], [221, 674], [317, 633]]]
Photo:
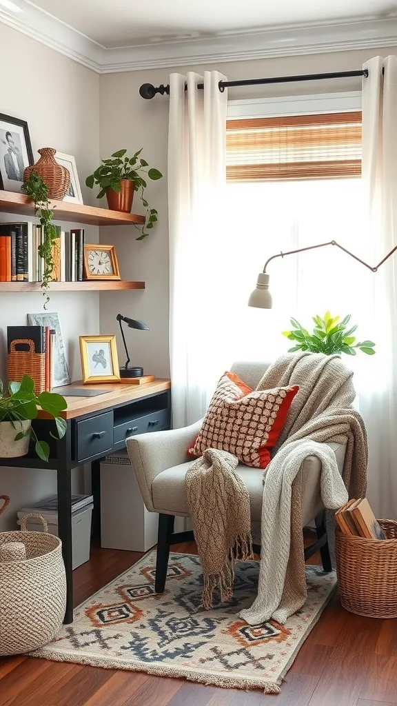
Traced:
[[[107, 189], [113, 189], [113, 191], [119, 193], [121, 191], [120, 181], [123, 179], [134, 181], [134, 191], [138, 191], [142, 204], [148, 212], [145, 224], [142, 227], [142, 234], [137, 240], [146, 238], [146, 236], [148, 236], [148, 230], [152, 229], [155, 222], [158, 220], [158, 212], [155, 208], [150, 208], [144, 196], [146, 186], [148, 186], [145, 178], [146, 174], [148, 178], [153, 181], [162, 179], [162, 173], [159, 172], [158, 169], [148, 169], [148, 162], [143, 160], [142, 157], [139, 157], [142, 150], [143, 148], [135, 152], [132, 157], [126, 156], [127, 150], [113, 152], [109, 160], [102, 160], [100, 167], [95, 169], [95, 172], [85, 179], [85, 184], [89, 189], [93, 189], [94, 184], [100, 186], [100, 192], [97, 198], [105, 196]], [[137, 225], [136, 228], [138, 228]]]

